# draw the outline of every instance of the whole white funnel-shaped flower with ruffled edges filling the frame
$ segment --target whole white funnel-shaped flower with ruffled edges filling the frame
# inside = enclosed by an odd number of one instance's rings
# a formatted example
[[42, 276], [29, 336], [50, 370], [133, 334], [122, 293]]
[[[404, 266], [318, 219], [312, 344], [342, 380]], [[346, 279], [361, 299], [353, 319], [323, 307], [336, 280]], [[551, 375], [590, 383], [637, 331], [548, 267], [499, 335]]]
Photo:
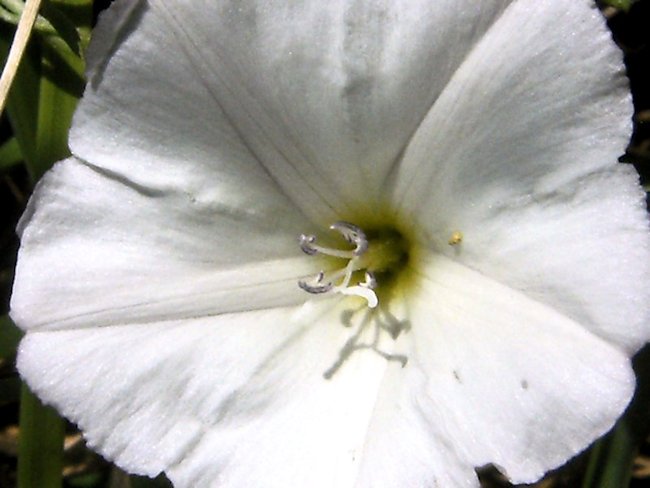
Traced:
[[22, 375], [178, 486], [538, 479], [649, 336], [620, 58], [587, 0], [118, 1], [21, 224]]

